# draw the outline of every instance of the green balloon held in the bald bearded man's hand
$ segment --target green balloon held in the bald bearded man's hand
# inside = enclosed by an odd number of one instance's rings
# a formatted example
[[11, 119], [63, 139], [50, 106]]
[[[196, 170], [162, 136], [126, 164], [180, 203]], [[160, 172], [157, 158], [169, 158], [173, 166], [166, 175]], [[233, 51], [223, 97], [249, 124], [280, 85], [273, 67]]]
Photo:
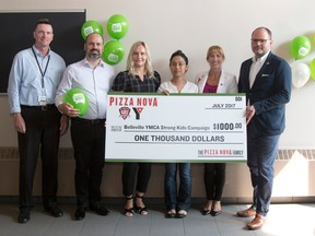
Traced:
[[69, 103], [74, 109], [79, 109], [79, 116], [83, 116], [89, 108], [88, 95], [83, 90], [71, 88], [63, 96], [63, 103]]

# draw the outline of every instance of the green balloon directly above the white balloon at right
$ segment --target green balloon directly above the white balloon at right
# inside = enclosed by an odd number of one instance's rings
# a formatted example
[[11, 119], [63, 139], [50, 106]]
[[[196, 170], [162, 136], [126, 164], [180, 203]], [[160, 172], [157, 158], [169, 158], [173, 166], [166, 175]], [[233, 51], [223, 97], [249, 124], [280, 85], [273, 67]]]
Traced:
[[290, 54], [295, 60], [305, 58], [311, 51], [311, 40], [306, 36], [296, 36], [290, 43]]

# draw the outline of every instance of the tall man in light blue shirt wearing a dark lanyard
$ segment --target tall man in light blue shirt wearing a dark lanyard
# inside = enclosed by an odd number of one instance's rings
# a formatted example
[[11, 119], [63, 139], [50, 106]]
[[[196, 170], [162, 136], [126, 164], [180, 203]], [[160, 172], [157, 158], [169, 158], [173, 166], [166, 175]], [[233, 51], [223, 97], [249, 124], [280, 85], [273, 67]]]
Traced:
[[56, 193], [59, 139], [67, 132], [68, 117], [58, 111], [55, 95], [66, 63], [49, 47], [54, 39], [49, 20], [38, 20], [33, 36], [35, 44], [14, 57], [8, 86], [20, 153], [19, 223], [30, 220], [34, 206], [32, 191], [39, 150], [44, 209], [55, 217], [63, 214], [56, 203]]

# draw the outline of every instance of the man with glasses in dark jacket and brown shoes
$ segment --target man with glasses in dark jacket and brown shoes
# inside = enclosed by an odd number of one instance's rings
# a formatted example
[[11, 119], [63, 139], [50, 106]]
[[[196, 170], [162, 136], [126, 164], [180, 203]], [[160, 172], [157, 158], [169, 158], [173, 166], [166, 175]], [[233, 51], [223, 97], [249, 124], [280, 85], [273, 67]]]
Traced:
[[262, 227], [269, 211], [273, 163], [280, 134], [285, 126], [285, 104], [291, 95], [291, 68], [270, 51], [271, 32], [258, 27], [252, 33], [254, 57], [241, 67], [238, 92], [246, 93], [247, 165], [254, 188], [253, 204], [238, 211], [241, 217], [255, 216], [249, 229]]

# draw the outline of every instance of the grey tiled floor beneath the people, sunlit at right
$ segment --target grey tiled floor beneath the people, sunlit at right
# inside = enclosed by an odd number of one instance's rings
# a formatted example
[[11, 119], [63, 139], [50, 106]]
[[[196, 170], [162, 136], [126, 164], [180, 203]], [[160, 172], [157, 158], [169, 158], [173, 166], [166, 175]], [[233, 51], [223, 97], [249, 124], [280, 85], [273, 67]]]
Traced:
[[225, 204], [217, 217], [203, 216], [201, 205], [192, 205], [183, 219], [165, 219], [164, 205], [150, 204], [150, 214], [126, 217], [121, 205], [108, 205], [110, 214], [100, 216], [88, 212], [82, 221], [73, 220], [75, 205], [62, 203], [65, 215], [54, 219], [36, 204], [31, 221], [16, 223], [16, 203], [0, 203], [1, 236], [314, 236], [315, 204], [271, 204], [267, 223], [259, 231], [248, 231], [245, 225], [250, 219], [235, 216], [235, 212], [247, 208], [244, 204]]

